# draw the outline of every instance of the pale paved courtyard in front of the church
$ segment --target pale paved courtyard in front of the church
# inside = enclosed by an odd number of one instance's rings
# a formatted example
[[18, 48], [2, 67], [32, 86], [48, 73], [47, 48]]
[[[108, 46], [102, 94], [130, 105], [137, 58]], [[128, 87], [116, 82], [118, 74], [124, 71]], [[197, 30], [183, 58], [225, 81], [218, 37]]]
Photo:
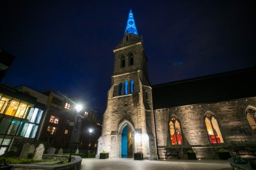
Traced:
[[164, 169], [221, 169], [229, 170], [231, 166], [227, 160], [133, 160], [132, 158], [83, 158], [81, 169], [138, 169], [138, 170], [164, 170]]

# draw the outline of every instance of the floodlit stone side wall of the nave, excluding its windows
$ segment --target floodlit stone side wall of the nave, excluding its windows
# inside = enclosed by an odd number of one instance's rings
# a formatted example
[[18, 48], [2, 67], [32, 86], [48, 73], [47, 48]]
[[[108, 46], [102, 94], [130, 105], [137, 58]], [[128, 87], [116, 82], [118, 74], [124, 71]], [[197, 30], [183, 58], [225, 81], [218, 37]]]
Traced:
[[[211, 104], [184, 105], [155, 111], [157, 149], [163, 158], [163, 148], [193, 148], [200, 158], [216, 158], [216, 148], [250, 146], [256, 143], [255, 135], [246, 118], [246, 108], [256, 106], [256, 97], [239, 98]], [[224, 143], [211, 144], [205, 127], [205, 112], [210, 111], [218, 120]], [[182, 145], [171, 145], [169, 121], [174, 114], [180, 121]]]

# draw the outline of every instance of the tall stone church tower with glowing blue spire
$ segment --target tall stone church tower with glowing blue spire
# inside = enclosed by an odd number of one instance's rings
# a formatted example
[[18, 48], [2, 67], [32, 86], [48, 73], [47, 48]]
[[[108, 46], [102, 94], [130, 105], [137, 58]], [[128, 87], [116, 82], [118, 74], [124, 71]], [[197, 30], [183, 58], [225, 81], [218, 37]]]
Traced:
[[148, 59], [131, 10], [125, 35], [113, 52], [115, 64], [97, 157], [104, 150], [110, 158], [132, 158], [134, 153], [141, 152], [144, 158], [156, 160]]

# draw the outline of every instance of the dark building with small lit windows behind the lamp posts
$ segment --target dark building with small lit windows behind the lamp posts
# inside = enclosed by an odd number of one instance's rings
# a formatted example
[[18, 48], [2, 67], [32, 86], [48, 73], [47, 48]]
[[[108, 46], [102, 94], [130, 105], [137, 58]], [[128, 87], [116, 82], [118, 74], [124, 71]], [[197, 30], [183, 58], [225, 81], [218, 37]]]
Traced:
[[[38, 102], [45, 105], [45, 114], [42, 117], [42, 127], [38, 131], [38, 140], [54, 148], [62, 148], [69, 151], [70, 139], [72, 139], [74, 121], [76, 117], [76, 104], [70, 98], [58, 95], [51, 91], [40, 93], [28, 86], [16, 87], [19, 91], [36, 97]], [[74, 136], [74, 148], [88, 152], [96, 150], [97, 139], [101, 132], [101, 126], [97, 125], [97, 111], [84, 108], [78, 114], [76, 135]], [[89, 128], [93, 131], [90, 133]], [[100, 130], [99, 130], [100, 128]]]

